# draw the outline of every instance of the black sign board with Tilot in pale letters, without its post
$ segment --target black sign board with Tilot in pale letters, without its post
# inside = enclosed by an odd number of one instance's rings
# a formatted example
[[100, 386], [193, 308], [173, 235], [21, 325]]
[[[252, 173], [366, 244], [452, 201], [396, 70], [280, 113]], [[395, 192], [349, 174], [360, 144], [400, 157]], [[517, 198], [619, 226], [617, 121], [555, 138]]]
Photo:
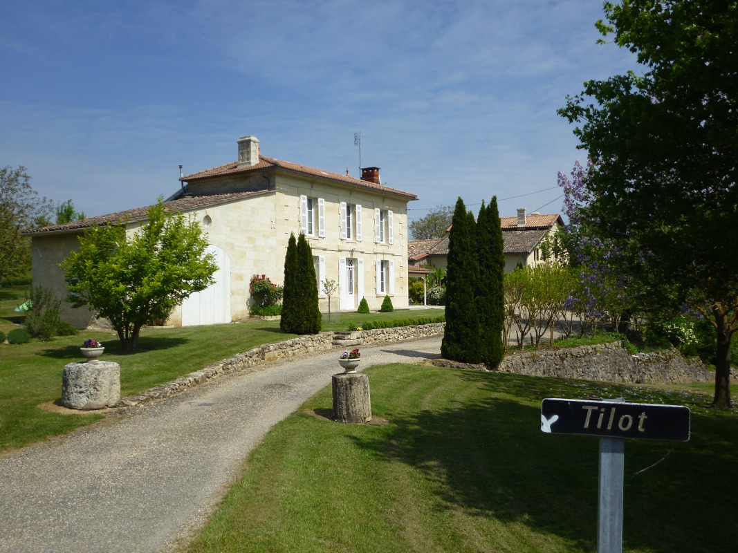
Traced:
[[689, 408], [646, 403], [546, 399], [541, 430], [606, 438], [689, 440]]

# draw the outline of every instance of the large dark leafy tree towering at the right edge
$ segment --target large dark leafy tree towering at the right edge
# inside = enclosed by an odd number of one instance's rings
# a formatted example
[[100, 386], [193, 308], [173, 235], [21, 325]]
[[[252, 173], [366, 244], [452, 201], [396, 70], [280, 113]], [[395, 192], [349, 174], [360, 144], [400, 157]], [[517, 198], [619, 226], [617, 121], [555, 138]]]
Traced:
[[644, 302], [683, 302], [717, 330], [713, 406], [729, 408], [738, 330], [738, 2], [606, 2], [600, 32], [642, 76], [584, 83], [559, 110], [593, 159], [590, 220]]

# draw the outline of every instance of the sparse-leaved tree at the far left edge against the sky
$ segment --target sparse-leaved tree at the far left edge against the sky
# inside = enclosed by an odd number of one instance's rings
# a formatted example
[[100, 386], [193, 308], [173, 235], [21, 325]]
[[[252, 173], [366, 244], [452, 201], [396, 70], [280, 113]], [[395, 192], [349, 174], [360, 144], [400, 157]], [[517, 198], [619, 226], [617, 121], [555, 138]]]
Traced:
[[0, 169], [0, 285], [30, 271], [30, 238], [22, 233], [44, 226], [51, 210], [51, 202], [31, 187], [25, 167]]

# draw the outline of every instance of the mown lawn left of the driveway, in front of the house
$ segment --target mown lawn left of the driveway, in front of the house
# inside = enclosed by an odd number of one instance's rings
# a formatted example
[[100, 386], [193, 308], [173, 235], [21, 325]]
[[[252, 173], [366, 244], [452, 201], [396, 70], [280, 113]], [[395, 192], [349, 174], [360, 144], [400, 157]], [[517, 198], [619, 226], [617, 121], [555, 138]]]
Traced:
[[[27, 286], [0, 288], [0, 330], [4, 333], [22, 322], [23, 315], [13, 309], [27, 299], [27, 291]], [[359, 324], [377, 317], [405, 319], [410, 313], [435, 316], [442, 311], [340, 313], [331, 316], [332, 322], [325, 324], [323, 330], [346, 330], [351, 322]], [[79, 348], [87, 338], [105, 346], [104, 360], [120, 364], [121, 394], [127, 396], [176, 380], [252, 347], [293, 337], [280, 330], [279, 321], [256, 319], [207, 327], [145, 328], [139, 351], [133, 354], [121, 352], [117, 335], [105, 332], [80, 331], [78, 335], [47, 342], [0, 344], [0, 451], [66, 434], [103, 418], [101, 414], [60, 414], [39, 408], [61, 398], [64, 365], [82, 361]]]

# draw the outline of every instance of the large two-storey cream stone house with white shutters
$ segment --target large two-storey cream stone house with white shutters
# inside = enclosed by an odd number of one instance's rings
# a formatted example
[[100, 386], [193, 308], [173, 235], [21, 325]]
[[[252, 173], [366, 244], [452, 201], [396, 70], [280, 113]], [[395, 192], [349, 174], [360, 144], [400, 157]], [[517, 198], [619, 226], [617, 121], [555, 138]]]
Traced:
[[[218, 262], [215, 284], [187, 298], [169, 324], [227, 323], [249, 315], [249, 280], [266, 274], [280, 284], [290, 233], [306, 234], [320, 283], [339, 283], [331, 309], [356, 310], [362, 297], [379, 309], [389, 294], [407, 307], [407, 203], [415, 194], [384, 186], [379, 167], [361, 178], [331, 173], [261, 155], [255, 136], [238, 140], [238, 161], [180, 178], [165, 208], [199, 221], [208, 251]], [[66, 297], [59, 263], [78, 246], [85, 229], [146, 223], [148, 207], [129, 209], [36, 229], [32, 239], [33, 282]], [[320, 288], [320, 309], [328, 298]], [[64, 304], [63, 319], [86, 327], [94, 313]]]

